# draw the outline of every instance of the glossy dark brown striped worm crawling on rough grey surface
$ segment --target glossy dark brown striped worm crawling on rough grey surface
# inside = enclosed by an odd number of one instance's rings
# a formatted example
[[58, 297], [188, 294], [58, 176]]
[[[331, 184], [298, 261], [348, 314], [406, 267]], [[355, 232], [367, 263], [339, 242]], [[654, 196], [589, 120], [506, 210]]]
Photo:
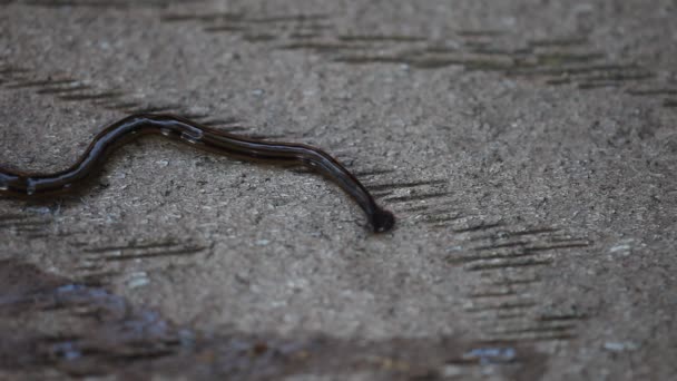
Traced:
[[321, 149], [303, 144], [261, 141], [226, 134], [171, 115], [131, 115], [106, 127], [80, 159], [53, 174], [27, 174], [0, 167], [0, 195], [40, 198], [71, 190], [90, 177], [121, 144], [143, 135], [161, 135], [200, 149], [243, 159], [301, 164], [330, 177], [364, 209], [376, 233], [391, 229], [392, 213], [381, 208], [366, 188], [341, 163]]

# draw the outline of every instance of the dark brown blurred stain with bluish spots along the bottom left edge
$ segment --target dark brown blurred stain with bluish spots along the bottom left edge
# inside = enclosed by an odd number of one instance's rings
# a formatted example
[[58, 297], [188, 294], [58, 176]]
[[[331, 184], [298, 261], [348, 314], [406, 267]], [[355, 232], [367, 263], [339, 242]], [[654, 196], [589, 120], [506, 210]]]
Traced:
[[151, 373], [199, 379], [278, 379], [290, 374], [352, 374], [373, 379], [436, 380], [454, 367], [471, 375], [491, 365], [506, 377], [538, 380], [543, 355], [523, 344], [488, 346], [452, 338], [342, 340], [308, 333], [294, 338], [222, 332], [216, 336], [173, 325], [104, 289], [75, 284], [16, 261], [0, 262], [0, 316], [27, 325], [52, 320], [40, 332], [0, 320], [0, 368], [56, 369], [70, 377]]

